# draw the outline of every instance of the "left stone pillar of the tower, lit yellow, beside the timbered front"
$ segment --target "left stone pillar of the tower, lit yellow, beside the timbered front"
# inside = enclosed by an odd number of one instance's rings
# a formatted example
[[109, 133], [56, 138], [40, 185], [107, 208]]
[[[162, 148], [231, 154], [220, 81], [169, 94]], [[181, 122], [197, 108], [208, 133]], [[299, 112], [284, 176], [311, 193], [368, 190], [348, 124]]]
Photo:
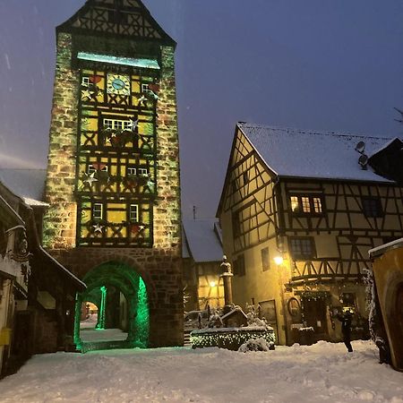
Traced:
[[57, 36], [56, 75], [49, 133], [43, 244], [75, 246], [77, 205], [74, 201], [79, 73], [72, 70], [72, 36]]

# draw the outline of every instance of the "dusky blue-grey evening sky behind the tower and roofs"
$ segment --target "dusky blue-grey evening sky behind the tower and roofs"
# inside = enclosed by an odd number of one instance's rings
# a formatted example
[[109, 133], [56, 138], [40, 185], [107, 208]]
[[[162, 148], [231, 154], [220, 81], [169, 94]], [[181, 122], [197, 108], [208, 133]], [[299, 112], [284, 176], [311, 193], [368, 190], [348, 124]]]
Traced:
[[[55, 27], [82, 4], [0, 1], [2, 167], [46, 165]], [[185, 217], [214, 216], [237, 121], [403, 135], [401, 0], [144, 4], [178, 43]]]

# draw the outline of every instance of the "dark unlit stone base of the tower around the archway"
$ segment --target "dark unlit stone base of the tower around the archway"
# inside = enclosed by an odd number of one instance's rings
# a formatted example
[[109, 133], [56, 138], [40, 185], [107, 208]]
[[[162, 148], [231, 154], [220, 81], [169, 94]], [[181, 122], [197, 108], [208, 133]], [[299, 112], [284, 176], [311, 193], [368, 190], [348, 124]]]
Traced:
[[150, 305], [150, 347], [182, 346], [184, 299], [182, 259], [164, 249], [75, 248], [51, 251], [82, 279], [107, 262], [123, 262], [140, 274]]

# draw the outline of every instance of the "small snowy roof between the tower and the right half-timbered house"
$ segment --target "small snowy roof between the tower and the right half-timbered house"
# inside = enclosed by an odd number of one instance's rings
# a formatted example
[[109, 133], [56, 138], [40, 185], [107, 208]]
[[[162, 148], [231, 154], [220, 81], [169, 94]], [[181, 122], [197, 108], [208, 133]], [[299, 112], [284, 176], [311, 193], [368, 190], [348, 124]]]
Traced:
[[183, 221], [184, 245], [194, 262], [220, 262], [222, 245], [215, 231], [216, 219], [188, 219]]

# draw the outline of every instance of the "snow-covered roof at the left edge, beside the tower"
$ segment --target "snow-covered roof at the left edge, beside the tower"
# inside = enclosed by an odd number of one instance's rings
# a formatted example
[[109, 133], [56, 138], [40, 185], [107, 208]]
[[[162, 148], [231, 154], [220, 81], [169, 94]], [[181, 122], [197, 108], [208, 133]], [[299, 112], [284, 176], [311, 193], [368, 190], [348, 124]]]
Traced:
[[46, 207], [46, 169], [0, 169], [0, 182], [29, 206]]

